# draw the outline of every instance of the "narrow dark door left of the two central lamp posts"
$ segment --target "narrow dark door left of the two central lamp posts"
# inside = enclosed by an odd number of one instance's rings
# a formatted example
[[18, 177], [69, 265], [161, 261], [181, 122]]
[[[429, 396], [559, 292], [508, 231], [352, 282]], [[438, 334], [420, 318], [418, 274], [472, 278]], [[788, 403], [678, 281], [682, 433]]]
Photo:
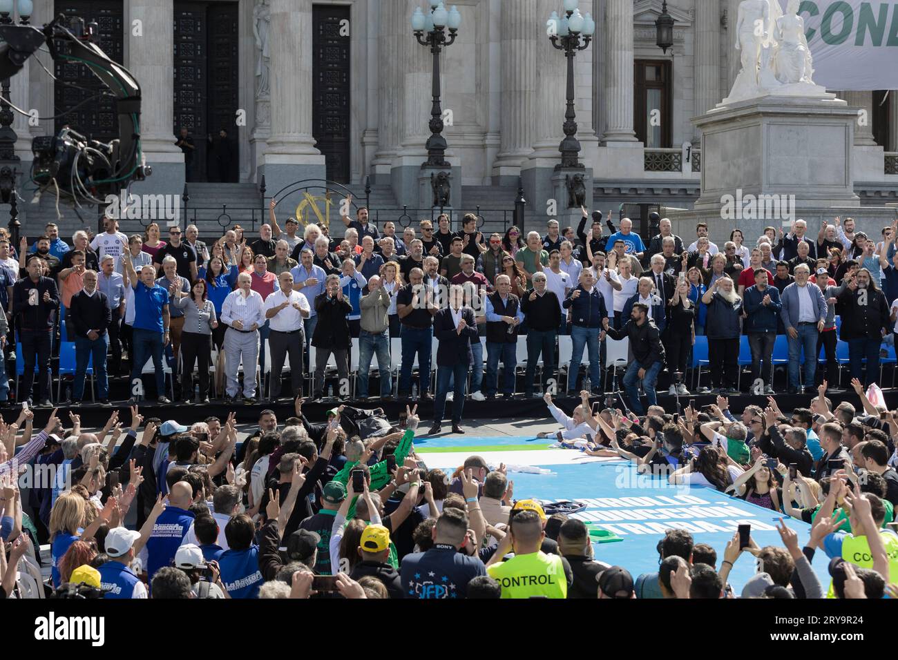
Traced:
[[313, 5], [312, 121], [327, 178], [348, 183], [349, 37], [340, 34], [343, 21], [348, 25], [348, 6]]

